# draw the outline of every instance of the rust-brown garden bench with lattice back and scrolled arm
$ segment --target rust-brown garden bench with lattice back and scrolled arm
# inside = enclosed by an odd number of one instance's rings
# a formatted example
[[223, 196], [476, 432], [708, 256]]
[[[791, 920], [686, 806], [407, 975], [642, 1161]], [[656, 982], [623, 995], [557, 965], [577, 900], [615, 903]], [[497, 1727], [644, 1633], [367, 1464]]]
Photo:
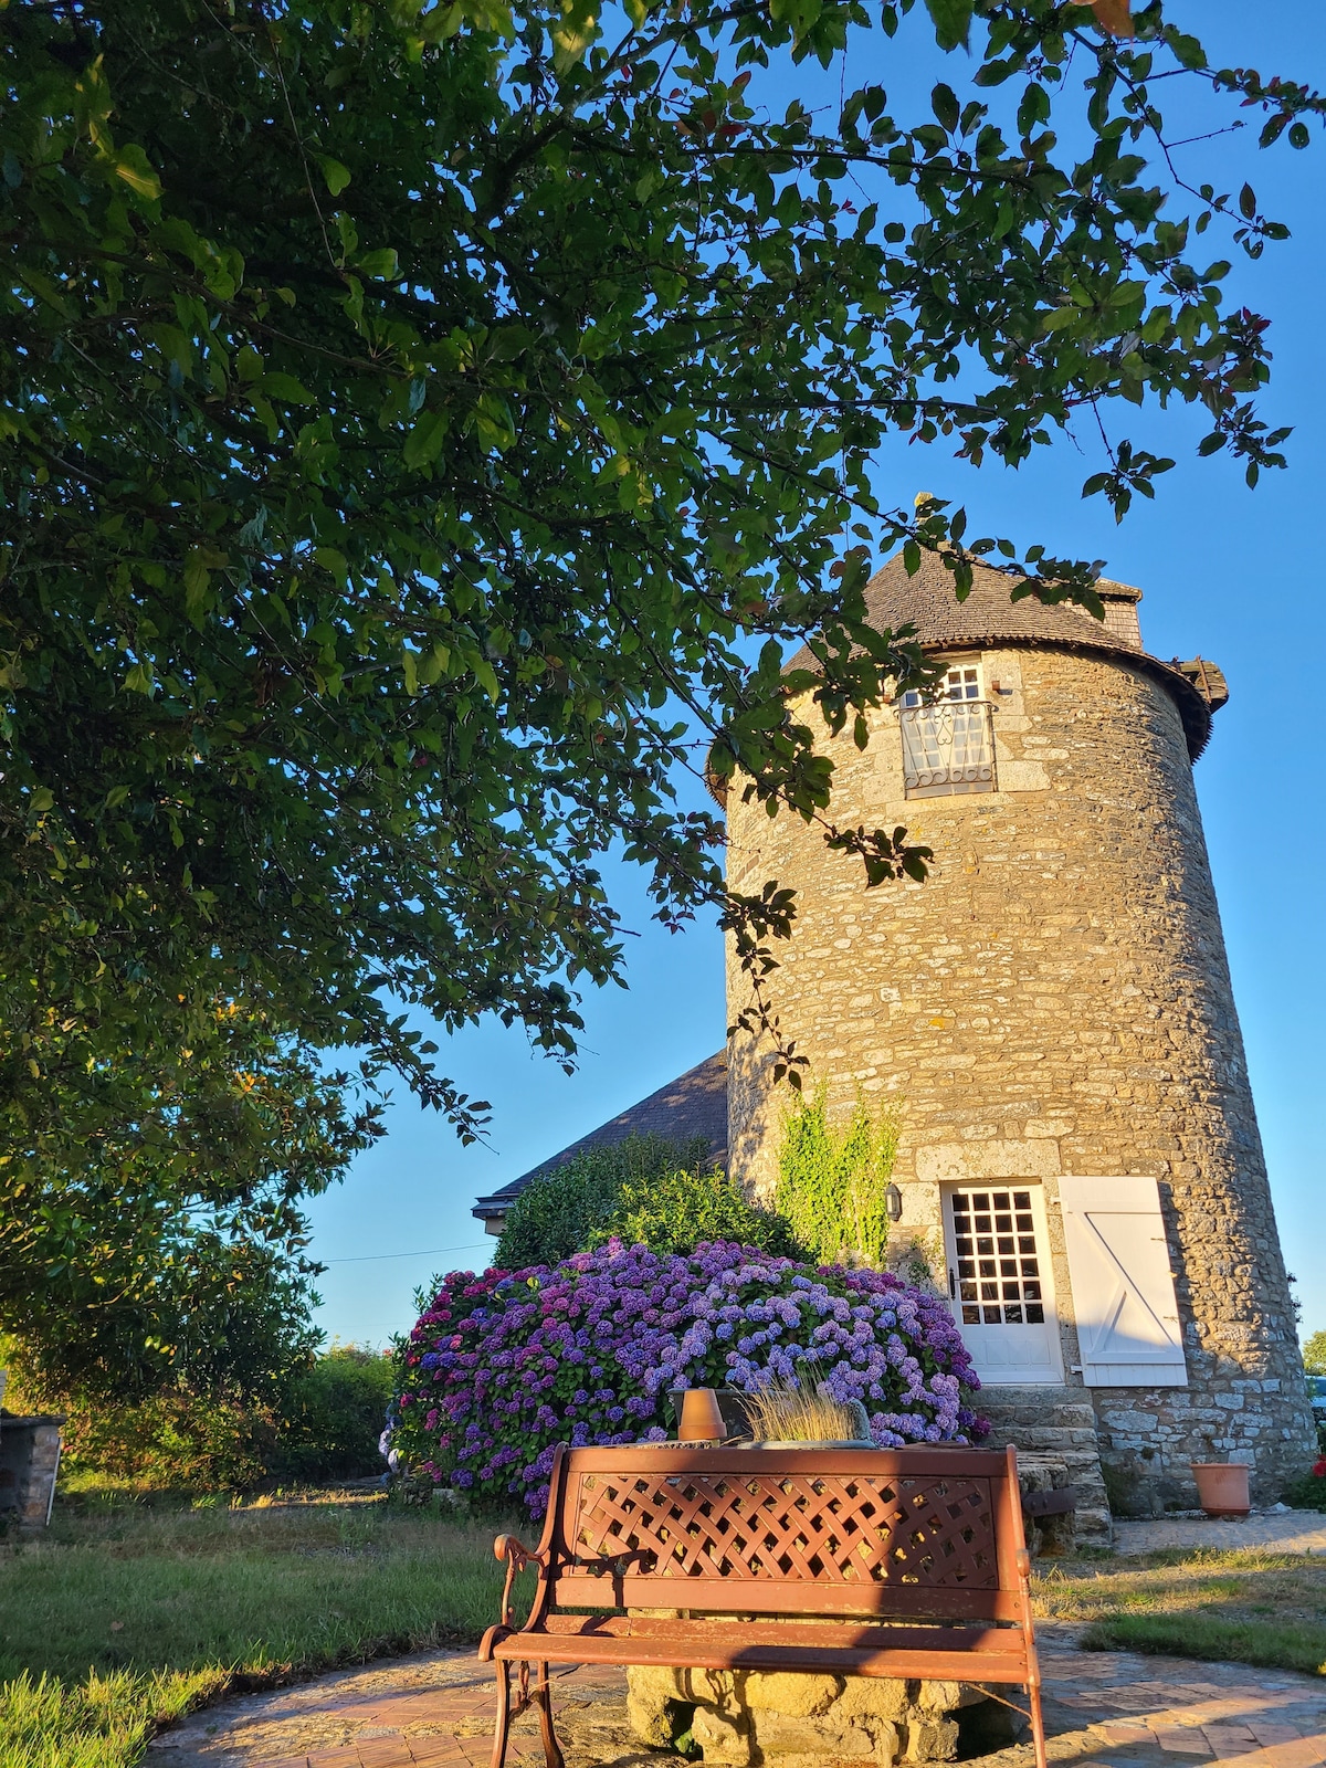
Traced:
[[[495, 1552], [502, 1619], [479, 1646], [497, 1664], [493, 1768], [530, 1701], [548, 1768], [562, 1768], [550, 1664], [1022, 1685], [1045, 1768], [1011, 1448], [562, 1448], [537, 1549], [499, 1535]], [[511, 1589], [527, 1565], [537, 1588], [518, 1628]]]

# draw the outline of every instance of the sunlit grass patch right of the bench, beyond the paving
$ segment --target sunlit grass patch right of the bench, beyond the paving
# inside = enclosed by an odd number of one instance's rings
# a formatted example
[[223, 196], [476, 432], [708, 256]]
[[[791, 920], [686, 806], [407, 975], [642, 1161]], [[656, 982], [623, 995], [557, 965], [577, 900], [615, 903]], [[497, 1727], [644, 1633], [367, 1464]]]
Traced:
[[1091, 1621], [1087, 1650], [1156, 1651], [1326, 1676], [1326, 1559], [1158, 1552], [1036, 1572], [1036, 1612]]

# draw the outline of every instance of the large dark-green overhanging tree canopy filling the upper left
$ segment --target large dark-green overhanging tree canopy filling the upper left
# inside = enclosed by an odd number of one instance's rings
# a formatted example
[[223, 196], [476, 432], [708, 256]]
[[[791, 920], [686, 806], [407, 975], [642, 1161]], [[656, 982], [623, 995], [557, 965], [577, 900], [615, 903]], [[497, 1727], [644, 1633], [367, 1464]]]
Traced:
[[[760, 97], [907, 32], [971, 58], [836, 117]], [[1266, 322], [1202, 235], [1285, 230], [1177, 179], [1158, 81], [1264, 147], [1322, 101], [1160, 4], [11, 0], [0, 53], [5, 1185], [150, 1192], [179, 1144], [127, 1172], [117, 1137], [209, 1091], [232, 1006], [474, 1135], [401, 1008], [569, 1061], [576, 981], [622, 969], [613, 842], [758, 981], [794, 903], [725, 895], [720, 820], [677, 806], [697, 743], [868, 882], [921, 875], [905, 831], [831, 824], [790, 711], [865, 741], [923, 679], [865, 624], [870, 555], [1098, 603], [1089, 560], [880, 502], [888, 435], [1018, 463], [1100, 419], [1119, 514], [1170, 465], [1130, 405], [1280, 461]]]

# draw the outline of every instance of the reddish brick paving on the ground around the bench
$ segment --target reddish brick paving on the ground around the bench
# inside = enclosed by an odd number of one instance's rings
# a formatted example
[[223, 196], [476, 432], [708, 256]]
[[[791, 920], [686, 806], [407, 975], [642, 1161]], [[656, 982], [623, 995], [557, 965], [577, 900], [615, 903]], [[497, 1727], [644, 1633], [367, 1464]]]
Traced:
[[[1064, 1768], [1326, 1768], [1326, 1678], [1243, 1664], [1077, 1651], [1077, 1628], [1041, 1623], [1050, 1761]], [[663, 1768], [631, 1741], [626, 1680], [566, 1671], [553, 1694], [568, 1768]], [[157, 1738], [149, 1768], [484, 1768], [492, 1673], [467, 1651], [403, 1658], [212, 1706]], [[509, 1763], [543, 1761], [532, 1715]], [[1018, 1745], [981, 1768], [1029, 1768]]]

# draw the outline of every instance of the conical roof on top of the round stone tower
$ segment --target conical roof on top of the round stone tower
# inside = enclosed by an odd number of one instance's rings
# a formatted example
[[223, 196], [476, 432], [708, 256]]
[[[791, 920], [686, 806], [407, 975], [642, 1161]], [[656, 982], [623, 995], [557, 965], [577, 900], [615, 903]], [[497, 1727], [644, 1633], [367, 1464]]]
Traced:
[[[1140, 601], [1142, 592], [1128, 583], [1101, 578], [1098, 589], [1107, 617], [1098, 621], [1086, 608], [1066, 601], [1054, 608], [1047, 608], [1034, 596], [1011, 601], [1018, 582], [1024, 578], [1013, 571], [978, 564], [971, 594], [965, 601], [958, 601], [953, 575], [935, 553], [921, 553], [921, 568], [914, 576], [907, 575], [902, 553], [895, 553], [866, 583], [866, 612], [877, 631], [916, 628], [916, 636], [926, 651], [992, 644], [1055, 645], [1126, 658], [1170, 690], [1183, 718], [1188, 753], [1197, 760], [1211, 734], [1211, 705], [1177, 663], [1149, 656], [1128, 636], [1132, 619], [1119, 615], [1124, 605]], [[789, 668], [810, 665], [813, 665], [812, 652], [803, 647]]]

